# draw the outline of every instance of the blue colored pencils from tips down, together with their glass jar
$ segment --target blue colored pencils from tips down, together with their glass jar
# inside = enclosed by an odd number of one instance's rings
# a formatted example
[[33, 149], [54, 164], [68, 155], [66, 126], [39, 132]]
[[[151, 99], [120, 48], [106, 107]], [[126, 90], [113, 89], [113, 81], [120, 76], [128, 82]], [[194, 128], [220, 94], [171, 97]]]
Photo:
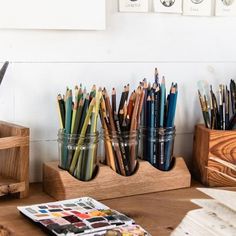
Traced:
[[168, 171], [171, 169], [174, 139], [175, 111], [177, 103], [177, 84], [172, 83], [166, 97], [165, 78], [159, 84], [158, 71], [155, 81], [147, 83], [144, 79], [144, 102], [141, 112], [139, 157], [154, 167]]

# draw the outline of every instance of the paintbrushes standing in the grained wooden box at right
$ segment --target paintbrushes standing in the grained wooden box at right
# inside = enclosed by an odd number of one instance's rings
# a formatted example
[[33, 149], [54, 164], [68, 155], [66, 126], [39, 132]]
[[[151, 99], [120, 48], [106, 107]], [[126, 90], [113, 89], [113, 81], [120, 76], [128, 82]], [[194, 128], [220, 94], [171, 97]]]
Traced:
[[[203, 83], [202, 81], [200, 82]], [[213, 92], [212, 86], [210, 86], [210, 91], [208, 91], [208, 88], [200, 82], [198, 84], [198, 96], [206, 128], [217, 130], [235, 129], [236, 84], [234, 80], [230, 81], [230, 90], [226, 85], [219, 85], [218, 100]], [[207, 83], [204, 82], [204, 84]]]

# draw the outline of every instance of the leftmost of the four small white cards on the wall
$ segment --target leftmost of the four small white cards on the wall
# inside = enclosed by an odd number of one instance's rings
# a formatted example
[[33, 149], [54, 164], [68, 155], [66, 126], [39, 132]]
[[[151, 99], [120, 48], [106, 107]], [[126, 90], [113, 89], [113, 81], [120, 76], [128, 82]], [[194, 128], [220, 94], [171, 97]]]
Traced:
[[120, 12], [148, 12], [148, 0], [119, 0]]

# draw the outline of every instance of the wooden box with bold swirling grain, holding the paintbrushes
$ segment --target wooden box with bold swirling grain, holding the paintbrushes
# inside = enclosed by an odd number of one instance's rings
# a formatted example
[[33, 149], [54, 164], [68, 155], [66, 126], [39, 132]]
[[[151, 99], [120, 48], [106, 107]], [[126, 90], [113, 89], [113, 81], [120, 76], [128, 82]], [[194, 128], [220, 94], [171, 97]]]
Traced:
[[196, 125], [191, 169], [207, 186], [236, 186], [236, 131]]

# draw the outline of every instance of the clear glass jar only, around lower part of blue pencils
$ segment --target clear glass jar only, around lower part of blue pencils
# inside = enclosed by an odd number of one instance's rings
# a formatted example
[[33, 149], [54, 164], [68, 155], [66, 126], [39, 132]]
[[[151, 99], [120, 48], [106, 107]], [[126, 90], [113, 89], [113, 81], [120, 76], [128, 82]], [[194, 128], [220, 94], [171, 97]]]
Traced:
[[171, 168], [175, 127], [140, 129], [139, 156], [160, 170]]

